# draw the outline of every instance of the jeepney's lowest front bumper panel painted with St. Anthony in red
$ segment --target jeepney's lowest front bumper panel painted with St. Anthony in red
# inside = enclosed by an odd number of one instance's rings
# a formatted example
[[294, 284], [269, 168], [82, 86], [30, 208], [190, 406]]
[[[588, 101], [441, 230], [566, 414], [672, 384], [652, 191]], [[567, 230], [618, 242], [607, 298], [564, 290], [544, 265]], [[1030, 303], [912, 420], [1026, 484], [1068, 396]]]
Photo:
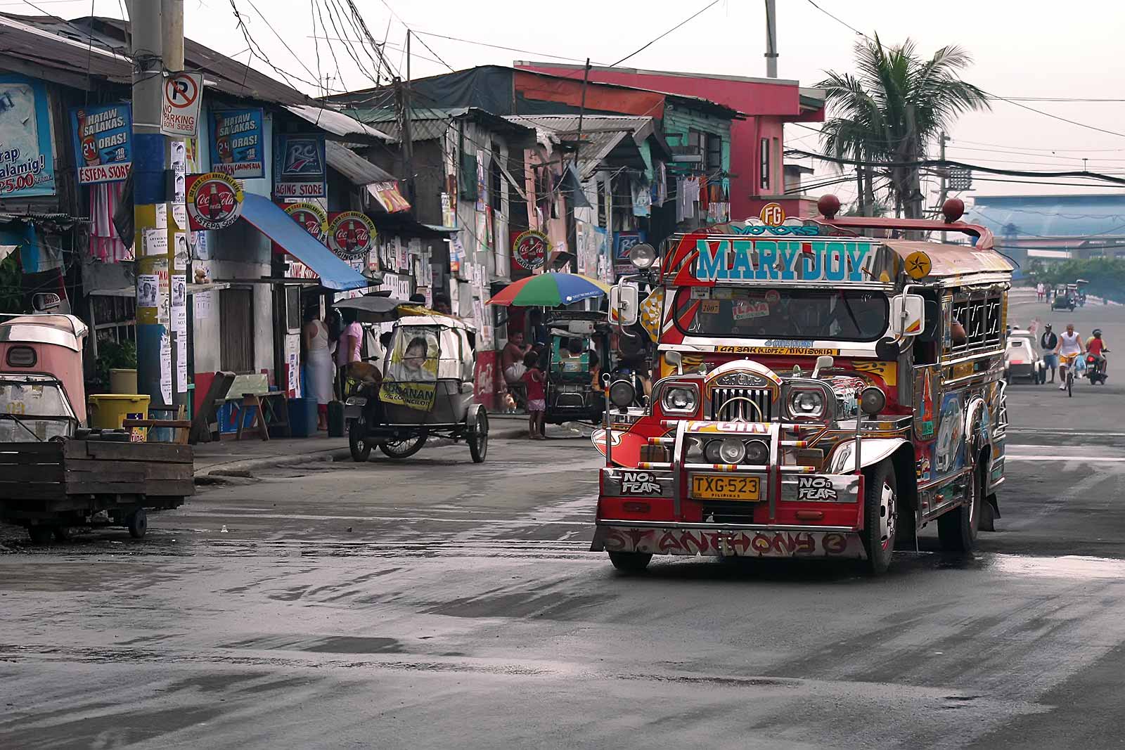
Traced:
[[860, 534], [824, 526], [598, 521], [593, 552], [866, 560]]

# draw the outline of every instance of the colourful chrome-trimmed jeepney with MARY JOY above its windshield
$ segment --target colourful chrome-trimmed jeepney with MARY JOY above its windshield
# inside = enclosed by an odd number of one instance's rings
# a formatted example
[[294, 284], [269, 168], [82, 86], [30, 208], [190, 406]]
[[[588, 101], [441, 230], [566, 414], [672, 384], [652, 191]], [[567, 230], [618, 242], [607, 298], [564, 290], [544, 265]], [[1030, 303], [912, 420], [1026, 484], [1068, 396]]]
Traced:
[[[593, 551], [849, 558], [886, 570], [936, 523], [966, 552], [999, 516], [1011, 265], [960, 222], [760, 218], [640, 246], [611, 320], [657, 343], [650, 404], [608, 383]], [[864, 236], [960, 232], [970, 244]], [[638, 299], [638, 281], [655, 291]]]

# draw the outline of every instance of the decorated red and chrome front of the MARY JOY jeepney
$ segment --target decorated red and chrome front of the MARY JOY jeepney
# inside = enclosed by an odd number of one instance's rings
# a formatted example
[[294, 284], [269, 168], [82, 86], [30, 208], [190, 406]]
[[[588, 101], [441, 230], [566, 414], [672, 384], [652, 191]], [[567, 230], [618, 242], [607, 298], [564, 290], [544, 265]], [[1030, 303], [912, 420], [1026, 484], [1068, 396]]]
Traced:
[[902, 259], [816, 223], [732, 223], [674, 237], [650, 278], [660, 378], [595, 434], [594, 549], [864, 559], [888, 542], [893, 512], [865, 523], [855, 457], [909, 435], [888, 352], [922, 304]]

